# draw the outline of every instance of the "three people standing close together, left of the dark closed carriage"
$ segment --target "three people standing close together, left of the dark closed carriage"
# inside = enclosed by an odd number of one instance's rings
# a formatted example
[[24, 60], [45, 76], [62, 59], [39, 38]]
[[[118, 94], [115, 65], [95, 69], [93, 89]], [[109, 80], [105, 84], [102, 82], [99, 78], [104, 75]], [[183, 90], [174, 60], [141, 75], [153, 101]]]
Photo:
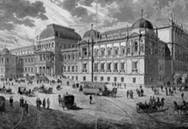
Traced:
[[50, 98], [44, 98], [43, 100], [41, 100], [40, 98], [36, 99], [36, 106], [37, 109], [40, 110], [41, 107], [43, 107], [44, 109], [50, 109]]

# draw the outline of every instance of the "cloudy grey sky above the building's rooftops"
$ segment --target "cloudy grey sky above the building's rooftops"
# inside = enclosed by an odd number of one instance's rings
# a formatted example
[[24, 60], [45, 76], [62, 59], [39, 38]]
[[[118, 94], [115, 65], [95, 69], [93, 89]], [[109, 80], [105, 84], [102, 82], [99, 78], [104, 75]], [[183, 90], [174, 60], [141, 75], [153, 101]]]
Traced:
[[0, 0], [0, 48], [32, 45], [51, 23], [81, 36], [92, 23], [100, 32], [131, 26], [141, 9], [155, 27], [167, 25], [174, 12], [175, 21], [188, 28], [188, 0]]

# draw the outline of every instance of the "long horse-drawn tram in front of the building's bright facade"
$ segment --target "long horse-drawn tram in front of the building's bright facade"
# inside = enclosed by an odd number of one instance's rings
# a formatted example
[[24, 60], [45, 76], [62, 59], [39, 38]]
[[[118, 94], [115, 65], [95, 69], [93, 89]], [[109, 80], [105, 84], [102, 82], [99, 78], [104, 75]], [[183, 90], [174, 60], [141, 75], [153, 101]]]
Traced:
[[86, 95], [100, 95], [100, 96], [112, 96], [117, 94], [117, 88], [108, 85], [107, 83], [100, 82], [82, 82], [83, 93]]

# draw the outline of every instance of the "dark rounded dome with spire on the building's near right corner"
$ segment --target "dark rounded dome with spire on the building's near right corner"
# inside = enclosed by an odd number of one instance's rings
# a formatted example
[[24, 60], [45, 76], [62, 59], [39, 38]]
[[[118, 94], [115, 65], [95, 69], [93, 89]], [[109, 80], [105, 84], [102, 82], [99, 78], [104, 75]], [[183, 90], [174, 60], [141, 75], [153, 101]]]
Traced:
[[153, 29], [153, 25], [150, 21], [141, 18], [138, 19], [133, 25], [132, 28], [146, 28], [146, 29]]

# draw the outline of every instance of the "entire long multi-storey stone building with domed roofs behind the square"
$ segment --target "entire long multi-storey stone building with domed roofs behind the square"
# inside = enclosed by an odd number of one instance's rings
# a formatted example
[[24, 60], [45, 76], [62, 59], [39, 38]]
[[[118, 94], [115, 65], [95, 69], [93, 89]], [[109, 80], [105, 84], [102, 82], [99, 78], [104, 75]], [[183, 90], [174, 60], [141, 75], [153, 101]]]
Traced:
[[21, 60], [22, 75], [152, 85], [187, 73], [187, 42], [188, 33], [173, 21], [154, 28], [140, 18], [131, 27], [103, 33], [91, 28], [83, 38], [73, 29], [50, 24], [37, 36], [35, 45], [11, 53]]

